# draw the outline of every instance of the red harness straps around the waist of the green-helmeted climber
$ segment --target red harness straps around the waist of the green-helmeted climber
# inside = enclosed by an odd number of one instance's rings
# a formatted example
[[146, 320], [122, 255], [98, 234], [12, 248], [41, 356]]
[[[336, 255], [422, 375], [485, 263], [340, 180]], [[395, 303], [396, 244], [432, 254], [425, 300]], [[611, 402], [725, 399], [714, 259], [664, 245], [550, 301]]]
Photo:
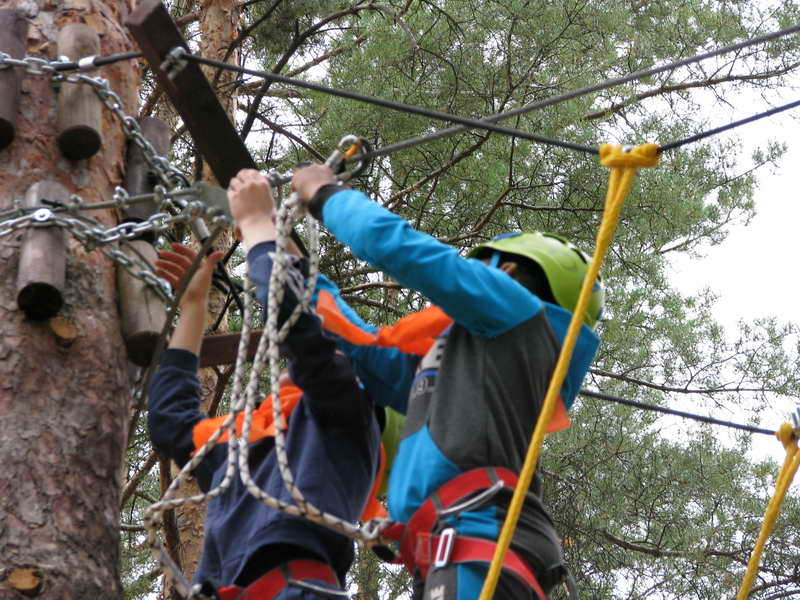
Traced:
[[[509, 490], [517, 485], [517, 475], [500, 467], [473, 469], [451, 479], [431, 494], [414, 512], [407, 524], [395, 523], [384, 531], [384, 537], [400, 542], [400, 560], [413, 575], [419, 571], [425, 579], [431, 567], [449, 563], [492, 562], [497, 542], [482, 538], [457, 536], [452, 528], [441, 535], [432, 535], [443, 512], [455, 508], [476, 492], [493, 487]], [[493, 495], [493, 494], [492, 494]], [[474, 499], [474, 498], [471, 498]], [[539, 600], [547, 600], [542, 587], [528, 564], [513, 550], [506, 553], [503, 569], [515, 575], [536, 592]]]

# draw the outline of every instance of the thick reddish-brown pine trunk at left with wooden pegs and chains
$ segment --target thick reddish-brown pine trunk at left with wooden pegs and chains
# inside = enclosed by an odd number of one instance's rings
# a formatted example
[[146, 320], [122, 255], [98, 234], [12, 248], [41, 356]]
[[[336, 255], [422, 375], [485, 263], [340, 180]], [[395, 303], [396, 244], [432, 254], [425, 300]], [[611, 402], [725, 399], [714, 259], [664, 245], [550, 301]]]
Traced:
[[[125, 0], [0, 0], [0, 8], [24, 11], [29, 56], [54, 59], [58, 30], [80, 22], [98, 32], [102, 54], [133, 49], [120, 26], [130, 9]], [[133, 112], [138, 66], [119, 63], [101, 76]], [[119, 123], [104, 110], [100, 152], [69, 161], [55, 140], [50, 82], [22, 77], [17, 136], [0, 152], [0, 211], [45, 179], [86, 202], [110, 199], [122, 179]], [[110, 212], [90, 215], [115, 223]], [[114, 265], [67, 234], [64, 306], [57, 321], [29, 321], [15, 297], [21, 237], [0, 238], [0, 598], [121, 598], [118, 507], [129, 391]]]

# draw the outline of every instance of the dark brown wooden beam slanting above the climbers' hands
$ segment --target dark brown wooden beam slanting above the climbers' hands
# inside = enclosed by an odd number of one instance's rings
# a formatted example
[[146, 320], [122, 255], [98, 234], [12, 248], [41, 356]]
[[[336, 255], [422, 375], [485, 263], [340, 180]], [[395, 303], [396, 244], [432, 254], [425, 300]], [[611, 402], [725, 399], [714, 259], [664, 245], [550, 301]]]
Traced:
[[144, 0], [125, 24], [219, 184], [228, 187], [228, 182], [240, 169], [257, 169], [200, 66], [186, 63], [172, 79], [161, 69], [170, 50], [177, 46], [188, 50], [178, 26], [161, 1]]

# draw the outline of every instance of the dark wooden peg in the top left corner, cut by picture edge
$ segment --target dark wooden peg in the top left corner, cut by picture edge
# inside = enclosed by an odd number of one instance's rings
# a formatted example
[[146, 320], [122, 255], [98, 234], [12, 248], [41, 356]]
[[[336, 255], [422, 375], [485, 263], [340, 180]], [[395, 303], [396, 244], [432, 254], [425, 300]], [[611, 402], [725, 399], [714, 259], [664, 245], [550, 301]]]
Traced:
[[[25, 56], [28, 21], [25, 13], [13, 8], [0, 9], [0, 52], [11, 58]], [[22, 69], [0, 69], [0, 150], [14, 141], [17, 133], [17, 111], [22, 81]]]

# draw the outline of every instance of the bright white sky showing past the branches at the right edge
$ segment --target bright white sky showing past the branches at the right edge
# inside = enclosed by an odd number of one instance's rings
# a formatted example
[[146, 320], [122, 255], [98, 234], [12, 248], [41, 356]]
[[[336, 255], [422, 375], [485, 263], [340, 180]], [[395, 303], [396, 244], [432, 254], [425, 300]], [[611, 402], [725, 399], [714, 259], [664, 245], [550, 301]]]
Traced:
[[[787, 96], [779, 103], [794, 99]], [[734, 112], [713, 119], [714, 126], [768, 108], [757, 96], [729, 100], [734, 104]], [[768, 140], [784, 141], [788, 145], [774, 173], [768, 168], [758, 172], [759, 183], [754, 196], [757, 214], [747, 226], [732, 226], [727, 239], [719, 246], [707, 248], [702, 258], [692, 260], [682, 256], [672, 261], [673, 285], [686, 293], [708, 287], [719, 297], [715, 305], [717, 320], [731, 336], [736, 334], [740, 320], [775, 316], [782, 321], [800, 323], [800, 283], [795, 278], [800, 271], [795, 262], [800, 258], [797, 244], [800, 237], [800, 147], [795, 142], [800, 140], [798, 119], [800, 109], [795, 109], [737, 130], [743, 145], [743, 160]], [[777, 427], [788, 420], [794, 409], [792, 400], [776, 397], [769, 414], [762, 415], [761, 426]], [[720, 418], [737, 420], [735, 414]], [[756, 435], [754, 455], [781, 462], [783, 448], [776, 440]]]

